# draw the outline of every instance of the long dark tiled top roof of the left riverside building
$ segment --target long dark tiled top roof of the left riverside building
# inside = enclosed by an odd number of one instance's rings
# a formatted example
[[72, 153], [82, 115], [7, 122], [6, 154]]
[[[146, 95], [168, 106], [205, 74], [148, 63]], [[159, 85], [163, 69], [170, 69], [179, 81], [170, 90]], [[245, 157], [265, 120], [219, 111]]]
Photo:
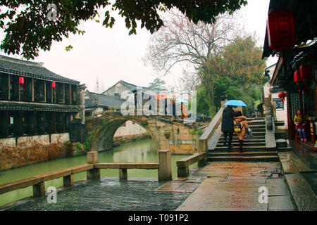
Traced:
[[80, 84], [74, 79], [68, 79], [44, 68], [43, 63], [35, 63], [0, 55], [0, 72], [24, 77], [33, 77], [67, 84]]

